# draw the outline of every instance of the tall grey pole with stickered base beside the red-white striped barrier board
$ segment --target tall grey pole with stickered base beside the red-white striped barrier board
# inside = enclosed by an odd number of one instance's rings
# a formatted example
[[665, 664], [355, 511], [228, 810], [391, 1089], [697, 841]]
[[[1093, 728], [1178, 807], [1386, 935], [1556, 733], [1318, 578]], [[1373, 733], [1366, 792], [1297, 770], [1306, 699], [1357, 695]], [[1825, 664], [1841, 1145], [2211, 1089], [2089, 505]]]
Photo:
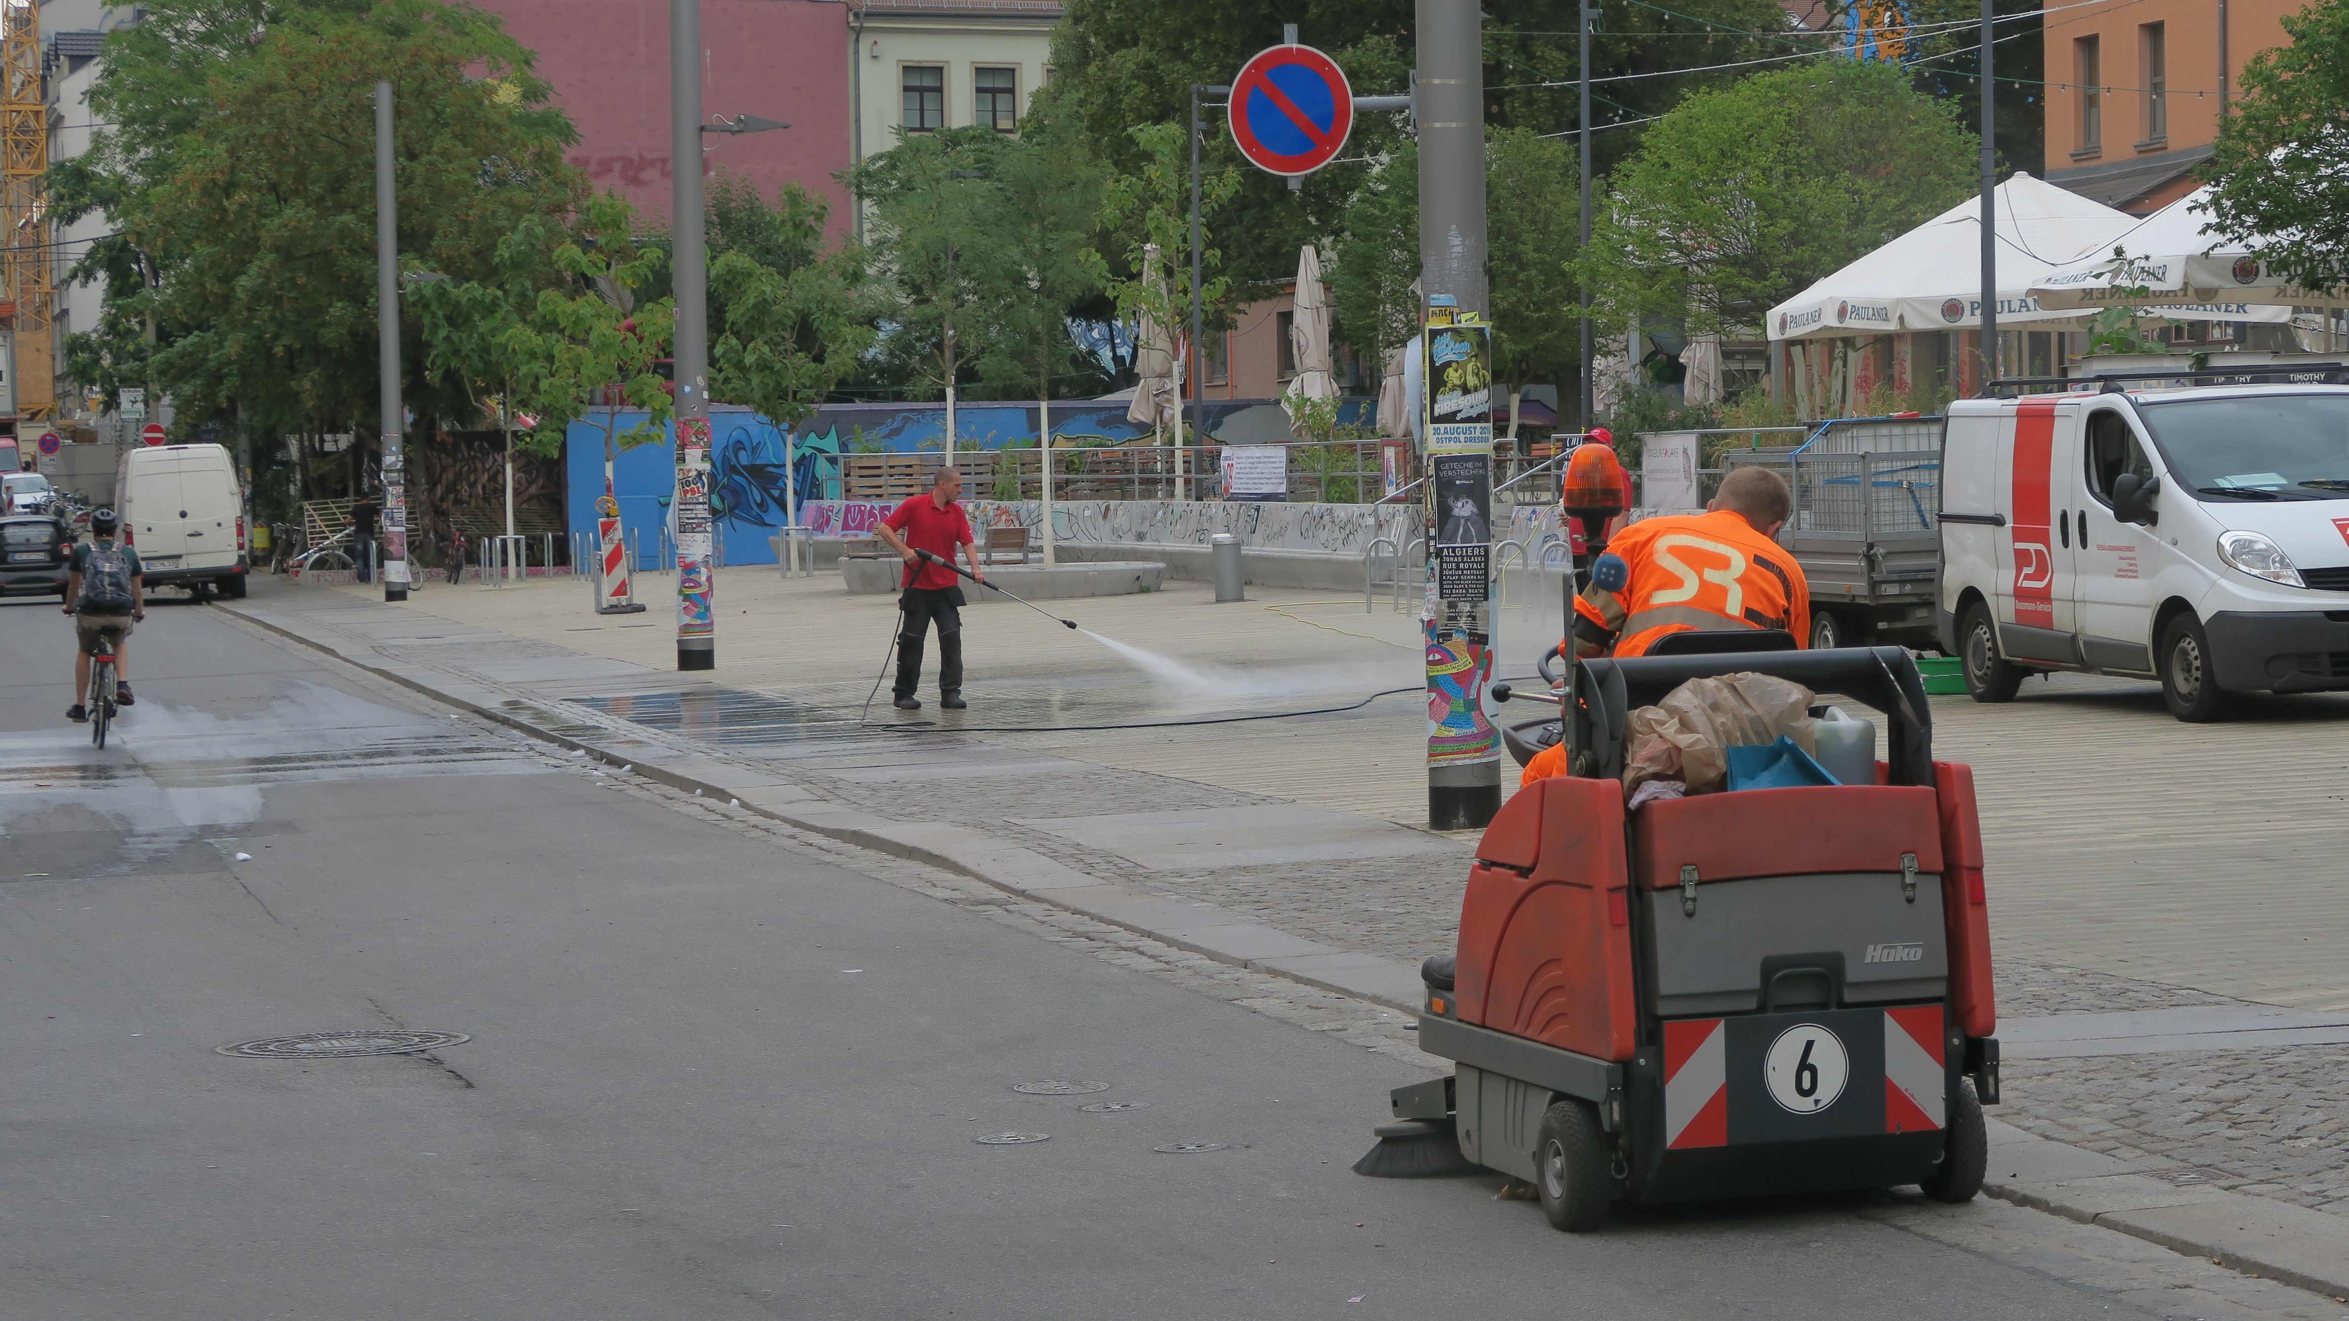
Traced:
[[709, 253], [702, 242], [702, 0], [669, 0], [677, 272], [677, 669], [716, 669], [709, 587]]

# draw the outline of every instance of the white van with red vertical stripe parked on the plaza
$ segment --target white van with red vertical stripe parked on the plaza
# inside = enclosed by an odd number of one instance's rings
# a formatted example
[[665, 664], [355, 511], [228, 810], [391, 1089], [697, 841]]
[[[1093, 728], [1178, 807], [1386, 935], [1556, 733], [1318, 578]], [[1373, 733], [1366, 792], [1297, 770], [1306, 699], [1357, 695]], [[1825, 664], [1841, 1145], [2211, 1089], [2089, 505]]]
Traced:
[[1976, 702], [2041, 671], [2349, 690], [2349, 387], [1966, 399], [1943, 439], [1940, 641]]

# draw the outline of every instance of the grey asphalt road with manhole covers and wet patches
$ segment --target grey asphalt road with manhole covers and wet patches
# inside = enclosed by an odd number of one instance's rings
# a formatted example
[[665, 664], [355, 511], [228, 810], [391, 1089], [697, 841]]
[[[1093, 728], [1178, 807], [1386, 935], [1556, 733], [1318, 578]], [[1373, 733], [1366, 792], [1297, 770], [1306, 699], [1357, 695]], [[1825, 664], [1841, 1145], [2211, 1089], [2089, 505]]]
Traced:
[[[1569, 1239], [1496, 1178], [1365, 1180], [1416, 1075], [1330, 1032], [608, 788], [202, 605], [150, 610], [96, 753], [68, 643], [0, 603], [5, 1319], [2342, 1312], [2001, 1204]], [[472, 1039], [216, 1054], [362, 1028]], [[1001, 1131], [1050, 1138], [975, 1143]]]

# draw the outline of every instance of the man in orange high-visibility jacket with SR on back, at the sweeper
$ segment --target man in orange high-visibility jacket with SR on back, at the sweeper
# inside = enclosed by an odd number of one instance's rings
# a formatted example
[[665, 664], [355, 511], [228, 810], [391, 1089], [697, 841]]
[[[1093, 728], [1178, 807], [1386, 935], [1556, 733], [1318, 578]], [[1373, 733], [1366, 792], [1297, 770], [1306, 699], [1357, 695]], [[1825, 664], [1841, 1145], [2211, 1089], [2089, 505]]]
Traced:
[[[1665, 634], [1785, 629], [1811, 636], [1811, 584], [1773, 537], [1795, 497], [1766, 467], [1722, 479], [1705, 514], [1668, 514], [1626, 528], [1574, 598], [1574, 655], [1637, 657]], [[1621, 565], [1607, 565], [1614, 556]], [[1611, 570], [1611, 573], [1609, 573]], [[1564, 744], [1525, 763], [1520, 784], [1567, 774]]]

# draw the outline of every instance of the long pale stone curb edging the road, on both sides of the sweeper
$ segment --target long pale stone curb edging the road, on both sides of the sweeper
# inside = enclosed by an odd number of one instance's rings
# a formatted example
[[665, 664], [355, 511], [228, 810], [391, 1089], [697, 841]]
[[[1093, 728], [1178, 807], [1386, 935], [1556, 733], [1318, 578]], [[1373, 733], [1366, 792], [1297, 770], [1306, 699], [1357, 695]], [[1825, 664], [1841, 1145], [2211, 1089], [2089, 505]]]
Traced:
[[[890, 821], [716, 758], [677, 758], [655, 744], [634, 744], [639, 753], [625, 741], [613, 746], [583, 741], [498, 709], [507, 692], [402, 666], [381, 655], [352, 655], [329, 638], [280, 624], [272, 619], [277, 612], [265, 608], [226, 601], [214, 601], [214, 608], [533, 739], [585, 751], [613, 767], [632, 763], [634, 774], [672, 788], [740, 800], [742, 809], [787, 826], [951, 870], [1231, 967], [1278, 974], [1407, 1016], [1421, 1009], [1419, 969], [1398, 960], [1306, 941], [1214, 903], [1184, 903], [1104, 882], [972, 826]], [[2102, 1225], [2175, 1253], [2208, 1258], [2236, 1272], [2349, 1300], [2349, 1218], [2342, 1215], [2220, 1187], [2178, 1185], [2145, 1166], [2039, 1138], [1999, 1119], [1990, 1119], [1990, 1176], [1983, 1180], [1983, 1192], [2081, 1225]]]

